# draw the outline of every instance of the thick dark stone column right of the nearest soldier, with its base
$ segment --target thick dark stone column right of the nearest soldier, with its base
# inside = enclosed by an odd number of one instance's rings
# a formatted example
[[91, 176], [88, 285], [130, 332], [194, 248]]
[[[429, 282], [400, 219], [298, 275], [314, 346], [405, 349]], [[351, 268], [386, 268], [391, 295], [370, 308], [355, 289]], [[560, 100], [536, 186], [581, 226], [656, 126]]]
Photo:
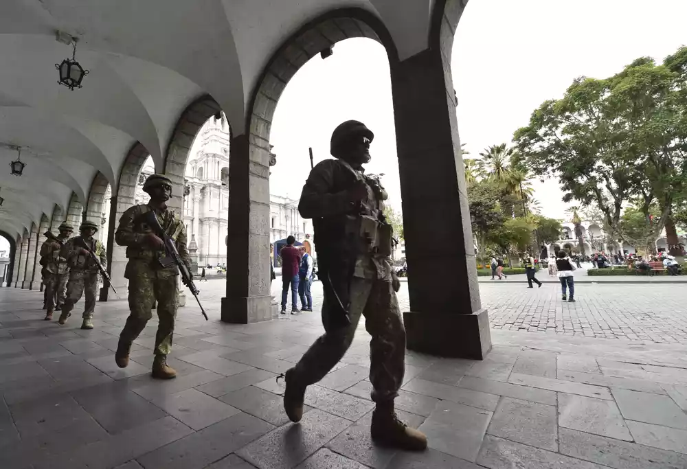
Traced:
[[403, 318], [409, 349], [481, 359], [491, 334], [477, 284], [451, 72], [443, 63], [450, 62], [427, 49], [391, 70], [409, 271]]

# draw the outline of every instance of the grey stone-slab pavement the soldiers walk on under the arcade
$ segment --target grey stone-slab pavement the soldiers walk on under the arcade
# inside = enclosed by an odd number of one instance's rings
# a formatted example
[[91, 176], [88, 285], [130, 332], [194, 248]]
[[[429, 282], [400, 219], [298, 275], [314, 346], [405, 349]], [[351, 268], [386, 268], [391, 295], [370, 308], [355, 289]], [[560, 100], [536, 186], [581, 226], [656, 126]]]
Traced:
[[[221, 323], [221, 287], [201, 284], [210, 321], [179, 311], [179, 377], [166, 382], [148, 376], [156, 321], [116, 367], [125, 301], [98, 304], [95, 330], [82, 331], [78, 314], [42, 321], [40, 293], [1, 288], [0, 468], [687, 468], [685, 345], [493, 330], [484, 361], [407, 352], [397, 407], [430, 442], [411, 454], [370, 441], [362, 323], [291, 424], [275, 376], [319, 335], [318, 315]], [[485, 302], [503, 288], [483, 290]], [[539, 304], [545, 288], [524, 291]]]

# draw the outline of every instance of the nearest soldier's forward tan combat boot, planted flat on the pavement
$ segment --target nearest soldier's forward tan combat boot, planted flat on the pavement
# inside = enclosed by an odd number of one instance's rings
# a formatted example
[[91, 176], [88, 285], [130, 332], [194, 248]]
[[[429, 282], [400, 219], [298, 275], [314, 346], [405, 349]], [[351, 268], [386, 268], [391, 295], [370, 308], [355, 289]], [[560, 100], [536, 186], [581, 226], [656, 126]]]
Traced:
[[372, 441], [380, 446], [407, 451], [422, 451], [427, 448], [427, 437], [415, 428], [410, 428], [396, 416], [394, 404], [377, 404], [372, 412]]

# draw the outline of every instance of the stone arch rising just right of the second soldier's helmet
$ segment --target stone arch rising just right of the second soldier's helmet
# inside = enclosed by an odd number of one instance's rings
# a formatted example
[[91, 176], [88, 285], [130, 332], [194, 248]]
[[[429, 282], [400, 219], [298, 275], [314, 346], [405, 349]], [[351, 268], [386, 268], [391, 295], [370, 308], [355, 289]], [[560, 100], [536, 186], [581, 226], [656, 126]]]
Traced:
[[[172, 198], [168, 205], [177, 214], [183, 206], [183, 175], [193, 141], [207, 119], [221, 115], [222, 109], [210, 95], [189, 104], [181, 113], [165, 154], [164, 174], [172, 180]], [[207, 177], [207, 174], [205, 174]]]

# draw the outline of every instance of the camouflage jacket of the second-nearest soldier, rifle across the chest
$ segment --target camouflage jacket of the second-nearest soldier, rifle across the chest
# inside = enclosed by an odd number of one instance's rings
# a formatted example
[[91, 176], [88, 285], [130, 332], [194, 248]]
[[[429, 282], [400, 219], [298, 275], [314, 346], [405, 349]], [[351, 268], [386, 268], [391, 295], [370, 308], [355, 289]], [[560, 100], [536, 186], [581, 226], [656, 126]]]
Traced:
[[[159, 211], [153, 209], [150, 205], [134, 205], [127, 209], [122, 214], [122, 218], [120, 218], [120, 224], [117, 226], [117, 231], [115, 231], [115, 241], [120, 246], [126, 246], [126, 258], [142, 260], [153, 270], [169, 271], [169, 273], [174, 273], [175, 275], [179, 273], [179, 269], [175, 265], [163, 268], [159, 264], [158, 260], [165, 258], [167, 255], [164, 249], [151, 249], [142, 242], [148, 233], [153, 232], [144, 220], [144, 216], [151, 210], [155, 211], [162, 229], [176, 242], [181, 262], [190, 269], [191, 258], [188, 254], [188, 247], [186, 247], [186, 229], [183, 226], [183, 222], [174, 214], [174, 211], [170, 209]], [[124, 276], [130, 278], [131, 268], [127, 266], [127, 269]]]

